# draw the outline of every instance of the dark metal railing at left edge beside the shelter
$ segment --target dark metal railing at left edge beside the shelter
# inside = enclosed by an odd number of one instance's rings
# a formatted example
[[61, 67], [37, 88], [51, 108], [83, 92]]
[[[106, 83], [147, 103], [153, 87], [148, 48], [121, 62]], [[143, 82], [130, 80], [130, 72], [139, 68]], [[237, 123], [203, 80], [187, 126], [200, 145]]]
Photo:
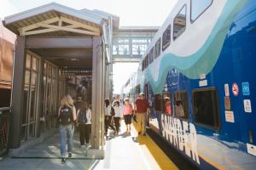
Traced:
[[9, 107], [0, 108], [0, 156], [8, 151], [10, 113]]

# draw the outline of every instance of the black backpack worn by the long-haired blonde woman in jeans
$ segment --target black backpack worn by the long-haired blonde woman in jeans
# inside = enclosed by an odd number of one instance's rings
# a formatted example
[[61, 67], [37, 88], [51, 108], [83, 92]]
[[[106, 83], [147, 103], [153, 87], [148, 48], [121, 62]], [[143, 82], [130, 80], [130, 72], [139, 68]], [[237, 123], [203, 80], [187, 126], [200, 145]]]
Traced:
[[61, 125], [68, 125], [73, 122], [73, 111], [72, 108], [64, 105], [61, 107], [59, 121]]

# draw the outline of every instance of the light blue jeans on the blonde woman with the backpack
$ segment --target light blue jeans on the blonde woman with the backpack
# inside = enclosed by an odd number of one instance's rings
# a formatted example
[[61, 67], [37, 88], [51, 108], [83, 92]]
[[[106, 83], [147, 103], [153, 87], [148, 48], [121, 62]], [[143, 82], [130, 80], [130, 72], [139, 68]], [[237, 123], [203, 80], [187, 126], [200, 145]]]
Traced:
[[73, 131], [74, 127], [70, 125], [60, 125], [61, 133], [61, 157], [66, 157], [66, 139], [67, 139], [67, 152], [73, 150]]

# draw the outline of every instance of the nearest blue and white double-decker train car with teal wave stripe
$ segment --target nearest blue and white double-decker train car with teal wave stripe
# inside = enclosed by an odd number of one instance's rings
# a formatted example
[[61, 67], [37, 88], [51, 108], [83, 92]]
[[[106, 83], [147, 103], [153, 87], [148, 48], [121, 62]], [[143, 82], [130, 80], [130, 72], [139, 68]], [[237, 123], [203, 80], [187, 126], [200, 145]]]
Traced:
[[140, 61], [150, 127], [201, 169], [256, 166], [255, 44], [255, 0], [179, 0]]

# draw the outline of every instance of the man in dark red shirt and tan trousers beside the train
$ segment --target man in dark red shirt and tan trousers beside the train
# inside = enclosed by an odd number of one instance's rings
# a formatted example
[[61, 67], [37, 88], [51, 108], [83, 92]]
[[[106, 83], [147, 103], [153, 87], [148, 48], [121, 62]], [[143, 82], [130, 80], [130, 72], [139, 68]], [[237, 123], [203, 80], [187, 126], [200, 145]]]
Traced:
[[148, 117], [149, 105], [143, 93], [138, 95], [138, 99], [135, 102], [135, 110], [137, 111], [138, 134], [143, 133], [146, 136], [146, 117]]

